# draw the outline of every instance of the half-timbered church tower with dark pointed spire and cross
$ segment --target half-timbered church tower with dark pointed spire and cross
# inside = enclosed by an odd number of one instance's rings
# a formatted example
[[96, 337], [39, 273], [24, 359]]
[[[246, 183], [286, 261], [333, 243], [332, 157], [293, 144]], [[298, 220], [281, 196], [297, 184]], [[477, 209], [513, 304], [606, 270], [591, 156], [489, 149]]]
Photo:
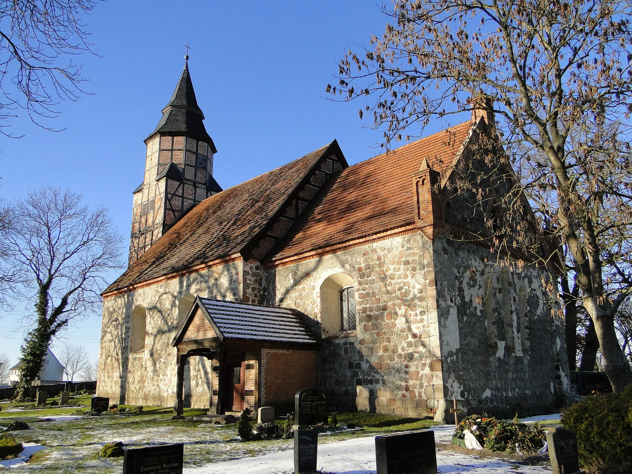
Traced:
[[161, 121], [145, 139], [145, 178], [133, 192], [129, 266], [186, 212], [222, 190], [213, 178], [217, 149], [202, 123], [188, 59]]

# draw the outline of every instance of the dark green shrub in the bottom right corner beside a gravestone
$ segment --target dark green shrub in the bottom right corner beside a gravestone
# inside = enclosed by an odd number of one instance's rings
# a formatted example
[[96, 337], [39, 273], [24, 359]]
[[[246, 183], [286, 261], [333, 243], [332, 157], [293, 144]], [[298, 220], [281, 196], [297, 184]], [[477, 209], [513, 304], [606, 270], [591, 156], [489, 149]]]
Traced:
[[576, 432], [584, 468], [632, 470], [632, 385], [619, 394], [588, 396], [562, 410], [562, 425]]

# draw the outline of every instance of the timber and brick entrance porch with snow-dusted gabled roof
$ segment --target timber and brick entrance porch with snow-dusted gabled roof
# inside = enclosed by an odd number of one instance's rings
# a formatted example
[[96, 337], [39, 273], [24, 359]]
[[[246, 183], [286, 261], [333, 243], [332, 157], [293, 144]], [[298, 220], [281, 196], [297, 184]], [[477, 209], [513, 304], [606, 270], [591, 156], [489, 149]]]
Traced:
[[172, 345], [178, 349], [174, 415], [184, 409], [186, 361], [212, 361], [209, 414], [259, 406], [290, 409], [294, 394], [319, 386], [319, 340], [289, 308], [196, 296]]

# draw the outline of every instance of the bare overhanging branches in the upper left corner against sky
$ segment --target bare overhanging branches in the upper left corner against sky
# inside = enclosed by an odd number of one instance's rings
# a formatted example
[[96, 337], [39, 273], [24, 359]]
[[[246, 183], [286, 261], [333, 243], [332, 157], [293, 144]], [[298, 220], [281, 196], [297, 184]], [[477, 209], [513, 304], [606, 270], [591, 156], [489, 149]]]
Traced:
[[[54, 118], [59, 100], [82, 94], [81, 68], [68, 56], [90, 51], [80, 15], [93, 0], [0, 1], [0, 119], [24, 109], [34, 123]], [[7, 125], [0, 126], [0, 131]], [[3, 131], [3, 133], [6, 132]]]

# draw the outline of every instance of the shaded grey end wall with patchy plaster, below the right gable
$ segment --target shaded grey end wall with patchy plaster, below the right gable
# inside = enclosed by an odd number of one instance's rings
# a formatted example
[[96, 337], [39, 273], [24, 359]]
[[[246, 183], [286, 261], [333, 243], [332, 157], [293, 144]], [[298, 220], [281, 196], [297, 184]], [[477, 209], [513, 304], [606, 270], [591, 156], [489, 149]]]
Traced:
[[467, 413], [528, 416], [569, 392], [563, 323], [544, 267], [508, 267], [481, 246], [434, 240], [444, 396]]

